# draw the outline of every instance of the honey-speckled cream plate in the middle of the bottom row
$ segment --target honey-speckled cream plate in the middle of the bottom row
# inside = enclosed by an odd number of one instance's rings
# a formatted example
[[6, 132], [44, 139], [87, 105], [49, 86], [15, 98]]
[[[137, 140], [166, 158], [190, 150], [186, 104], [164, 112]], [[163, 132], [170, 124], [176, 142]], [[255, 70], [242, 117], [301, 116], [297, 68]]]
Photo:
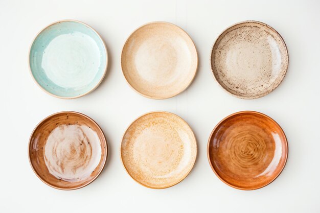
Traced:
[[196, 160], [196, 138], [189, 125], [170, 112], [150, 112], [123, 135], [120, 156], [127, 173], [149, 188], [167, 188], [187, 177]]

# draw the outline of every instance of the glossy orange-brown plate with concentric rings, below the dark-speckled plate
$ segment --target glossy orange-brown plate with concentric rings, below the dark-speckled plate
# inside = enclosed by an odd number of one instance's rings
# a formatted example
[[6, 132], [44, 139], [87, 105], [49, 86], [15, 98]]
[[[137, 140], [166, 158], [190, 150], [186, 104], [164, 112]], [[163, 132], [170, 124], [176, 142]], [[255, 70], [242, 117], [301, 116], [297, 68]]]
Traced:
[[240, 190], [268, 185], [282, 172], [288, 144], [281, 127], [254, 111], [231, 114], [212, 131], [208, 159], [215, 174]]

